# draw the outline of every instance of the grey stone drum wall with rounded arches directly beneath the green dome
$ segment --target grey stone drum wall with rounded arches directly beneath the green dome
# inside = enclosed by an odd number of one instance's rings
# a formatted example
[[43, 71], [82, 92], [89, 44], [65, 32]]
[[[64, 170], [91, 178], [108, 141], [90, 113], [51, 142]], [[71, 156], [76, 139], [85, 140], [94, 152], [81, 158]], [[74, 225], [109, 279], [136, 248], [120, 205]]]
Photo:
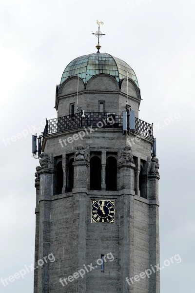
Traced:
[[[77, 112], [77, 83], [77, 77], [72, 77], [61, 85], [57, 97], [58, 117], [70, 114], [70, 103], [75, 103], [75, 112]], [[126, 84], [127, 81], [124, 80], [119, 89], [113, 77], [101, 74], [92, 77], [84, 89], [82, 81], [79, 80], [78, 105], [86, 112], [98, 112], [98, 101], [105, 101], [105, 112], [122, 112], [126, 105]], [[138, 117], [140, 94], [131, 81], [128, 82], [128, 93], [128, 105], [131, 105]]]

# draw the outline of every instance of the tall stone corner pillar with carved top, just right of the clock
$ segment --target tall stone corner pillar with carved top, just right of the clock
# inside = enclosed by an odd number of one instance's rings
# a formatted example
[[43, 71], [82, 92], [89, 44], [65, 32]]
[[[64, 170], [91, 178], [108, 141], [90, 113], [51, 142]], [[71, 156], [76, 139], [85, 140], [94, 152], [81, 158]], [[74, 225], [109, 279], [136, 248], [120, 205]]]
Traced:
[[134, 169], [131, 147], [121, 148], [118, 155], [120, 195], [120, 292], [133, 293], [126, 278], [134, 275]]

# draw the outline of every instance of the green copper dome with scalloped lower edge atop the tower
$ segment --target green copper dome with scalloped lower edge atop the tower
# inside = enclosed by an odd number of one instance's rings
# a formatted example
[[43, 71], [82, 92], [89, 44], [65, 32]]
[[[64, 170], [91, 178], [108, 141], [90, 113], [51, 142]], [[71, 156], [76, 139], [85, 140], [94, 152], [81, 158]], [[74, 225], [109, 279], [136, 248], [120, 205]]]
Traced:
[[71, 76], [79, 76], [87, 84], [92, 76], [99, 73], [109, 74], [119, 83], [127, 77], [127, 71], [128, 78], [138, 86], [136, 74], [127, 63], [107, 53], [93, 53], [71, 61], [64, 69], [60, 84]]

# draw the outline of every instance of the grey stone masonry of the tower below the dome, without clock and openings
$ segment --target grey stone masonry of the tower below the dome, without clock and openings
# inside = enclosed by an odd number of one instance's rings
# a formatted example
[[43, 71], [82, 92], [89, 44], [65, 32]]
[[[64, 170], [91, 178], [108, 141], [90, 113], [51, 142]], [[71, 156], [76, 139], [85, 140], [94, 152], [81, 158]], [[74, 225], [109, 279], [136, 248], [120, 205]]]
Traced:
[[[105, 78], [105, 79], [104, 79]], [[79, 82], [79, 101], [87, 111], [98, 111], [98, 100], [105, 99], [107, 112], [121, 112], [125, 84], [117, 88], [112, 78], [96, 77], [88, 84], [88, 92]], [[103, 85], [101, 87], [102, 84]], [[69, 104], [76, 103], [76, 79], [66, 81], [59, 91], [59, 116], [69, 114]], [[74, 88], [73, 88], [74, 87]], [[97, 92], [95, 92], [95, 89]], [[103, 89], [102, 91], [100, 89]], [[106, 92], [108, 91], [108, 92]], [[109, 92], [112, 91], [112, 92]], [[130, 86], [129, 103], [138, 117], [138, 93]], [[136, 96], [137, 95], [137, 96]], [[99, 128], [83, 139], [73, 140], [62, 145], [59, 139], [67, 140], [82, 128], [54, 133], [45, 137], [43, 150], [48, 154], [46, 165], [38, 170], [40, 186], [37, 187], [37, 220], [35, 262], [49, 253], [56, 261], [44, 264], [35, 272], [34, 293], [159, 293], [159, 275], [141, 279], [131, 286], [126, 277], [131, 278], [159, 263], [158, 231], [158, 179], [153, 171], [151, 146], [153, 141], [142, 137], [136, 141], [137, 133], [123, 135], [122, 130]], [[121, 148], [130, 146], [128, 159], [121, 159]], [[132, 139], [132, 140], [131, 140]], [[66, 178], [62, 194], [54, 195], [54, 158], [62, 157], [65, 172], [66, 156], [73, 154], [79, 144], [90, 153], [100, 152], [102, 162], [102, 187], [105, 187], [106, 156], [114, 153], [118, 160], [117, 191], [89, 190], [89, 160], [74, 162], [74, 188], [65, 192]], [[131, 153], [132, 152], [132, 153]], [[134, 161], [133, 159], [134, 158]], [[125, 161], [126, 160], [126, 161]], [[140, 197], [138, 174], [141, 160], [146, 162], [146, 196]], [[136, 186], [135, 186], [136, 185]], [[104, 188], [105, 189], [105, 188]], [[91, 200], [116, 200], [116, 221], [114, 224], [91, 223]], [[105, 263], [105, 272], [100, 267], [68, 282], [64, 287], [59, 278], [67, 278], [83, 268], [83, 265], [96, 264], [101, 254], [111, 252], [113, 262]]]

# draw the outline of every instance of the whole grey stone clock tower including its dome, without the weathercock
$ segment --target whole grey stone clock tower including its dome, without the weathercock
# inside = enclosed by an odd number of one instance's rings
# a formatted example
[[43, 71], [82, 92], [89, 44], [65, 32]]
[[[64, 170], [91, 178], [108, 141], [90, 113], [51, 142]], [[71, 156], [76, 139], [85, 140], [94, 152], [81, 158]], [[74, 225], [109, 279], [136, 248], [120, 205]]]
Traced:
[[36, 172], [34, 293], [159, 293], [159, 164], [140, 100], [109, 54], [65, 68]]

